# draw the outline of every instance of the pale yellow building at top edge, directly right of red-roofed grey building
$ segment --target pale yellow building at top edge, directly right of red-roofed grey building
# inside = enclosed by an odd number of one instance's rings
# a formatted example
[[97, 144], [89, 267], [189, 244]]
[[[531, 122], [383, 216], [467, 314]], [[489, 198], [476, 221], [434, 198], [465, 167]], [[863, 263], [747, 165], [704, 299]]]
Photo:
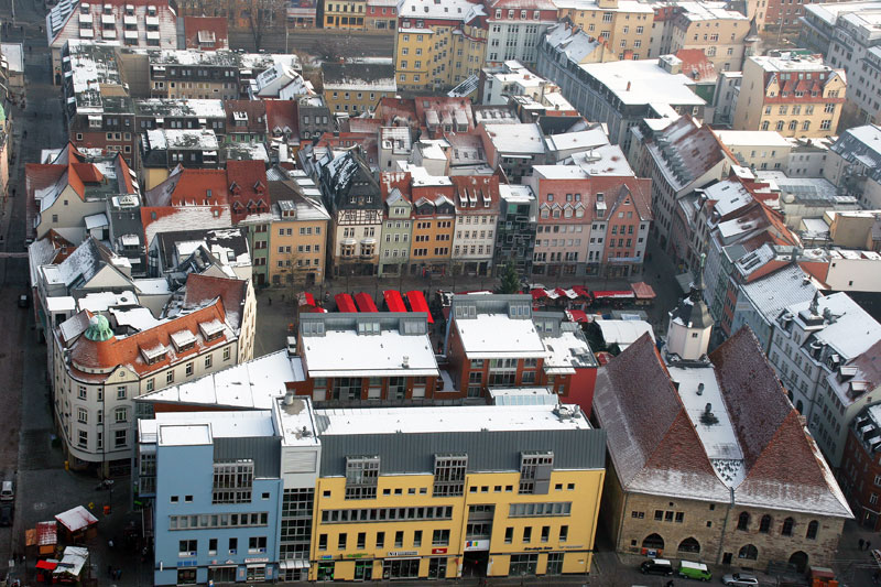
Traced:
[[[559, 19], [568, 19], [588, 35], [606, 41], [619, 59], [645, 59], [651, 55], [654, 11], [634, 0], [558, 0]], [[608, 61], [608, 59], [605, 59]]]

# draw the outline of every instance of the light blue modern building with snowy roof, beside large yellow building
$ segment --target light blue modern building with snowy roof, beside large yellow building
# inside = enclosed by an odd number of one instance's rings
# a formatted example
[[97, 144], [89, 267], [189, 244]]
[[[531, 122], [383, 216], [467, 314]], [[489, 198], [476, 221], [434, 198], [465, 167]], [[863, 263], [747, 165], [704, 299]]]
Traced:
[[142, 450], [155, 446], [154, 584], [274, 580], [283, 432], [272, 411], [160, 413], [140, 428]]

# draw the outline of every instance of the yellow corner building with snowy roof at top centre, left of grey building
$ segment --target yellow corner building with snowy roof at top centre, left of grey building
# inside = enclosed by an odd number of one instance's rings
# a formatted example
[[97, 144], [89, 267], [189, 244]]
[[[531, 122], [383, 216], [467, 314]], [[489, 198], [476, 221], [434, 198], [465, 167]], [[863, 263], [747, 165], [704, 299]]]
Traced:
[[482, 4], [466, 0], [403, 0], [394, 68], [400, 90], [449, 88], [478, 75], [486, 59]]

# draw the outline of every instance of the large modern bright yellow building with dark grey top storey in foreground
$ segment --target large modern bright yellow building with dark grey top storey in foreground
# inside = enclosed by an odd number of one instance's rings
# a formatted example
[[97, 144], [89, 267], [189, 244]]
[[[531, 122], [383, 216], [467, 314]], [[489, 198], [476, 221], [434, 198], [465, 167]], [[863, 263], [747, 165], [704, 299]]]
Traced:
[[589, 573], [605, 432], [577, 406], [317, 414], [311, 580]]

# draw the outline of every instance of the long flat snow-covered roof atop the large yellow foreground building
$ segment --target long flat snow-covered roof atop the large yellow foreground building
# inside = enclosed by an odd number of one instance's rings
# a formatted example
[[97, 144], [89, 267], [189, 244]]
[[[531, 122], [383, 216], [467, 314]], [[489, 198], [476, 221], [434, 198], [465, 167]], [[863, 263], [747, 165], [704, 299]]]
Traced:
[[590, 430], [578, 406], [565, 407], [565, 415], [555, 405], [339, 409], [316, 410], [315, 417], [322, 436]]

